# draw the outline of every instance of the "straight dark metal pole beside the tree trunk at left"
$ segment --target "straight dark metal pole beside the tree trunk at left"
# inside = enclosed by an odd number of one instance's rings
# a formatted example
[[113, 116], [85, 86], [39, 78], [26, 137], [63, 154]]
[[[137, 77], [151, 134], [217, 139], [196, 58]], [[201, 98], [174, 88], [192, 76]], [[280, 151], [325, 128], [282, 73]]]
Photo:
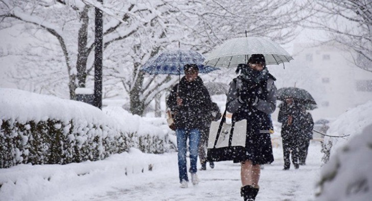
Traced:
[[[97, 0], [103, 3], [103, 0]], [[102, 36], [103, 20], [102, 11], [96, 8], [95, 18], [95, 96], [94, 105], [102, 109]]]

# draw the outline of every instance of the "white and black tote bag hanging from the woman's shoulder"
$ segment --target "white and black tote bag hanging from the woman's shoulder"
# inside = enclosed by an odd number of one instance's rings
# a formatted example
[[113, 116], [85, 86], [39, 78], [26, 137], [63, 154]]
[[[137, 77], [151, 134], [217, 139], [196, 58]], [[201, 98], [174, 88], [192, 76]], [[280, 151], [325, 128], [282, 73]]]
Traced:
[[207, 146], [207, 161], [232, 161], [245, 154], [247, 120], [226, 123], [226, 110], [221, 121], [213, 121]]

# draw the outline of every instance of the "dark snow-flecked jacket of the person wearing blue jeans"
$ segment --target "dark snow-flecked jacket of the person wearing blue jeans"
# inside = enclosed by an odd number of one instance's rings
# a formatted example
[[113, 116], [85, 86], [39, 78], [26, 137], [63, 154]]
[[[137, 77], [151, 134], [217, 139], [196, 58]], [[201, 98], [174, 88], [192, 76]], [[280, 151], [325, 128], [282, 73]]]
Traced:
[[[176, 101], [177, 88], [178, 96], [182, 99], [181, 106], [178, 106]], [[200, 77], [193, 82], [188, 82], [185, 77], [182, 77], [173, 87], [167, 99], [167, 106], [174, 114], [176, 128], [201, 129], [211, 118], [211, 96]]]

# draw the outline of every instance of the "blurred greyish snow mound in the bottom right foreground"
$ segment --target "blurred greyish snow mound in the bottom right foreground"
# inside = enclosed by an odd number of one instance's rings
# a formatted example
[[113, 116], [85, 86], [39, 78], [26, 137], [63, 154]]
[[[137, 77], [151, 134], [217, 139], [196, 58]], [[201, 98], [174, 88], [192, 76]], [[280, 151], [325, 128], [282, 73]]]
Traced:
[[372, 124], [331, 154], [321, 169], [318, 201], [370, 200], [372, 196]]

